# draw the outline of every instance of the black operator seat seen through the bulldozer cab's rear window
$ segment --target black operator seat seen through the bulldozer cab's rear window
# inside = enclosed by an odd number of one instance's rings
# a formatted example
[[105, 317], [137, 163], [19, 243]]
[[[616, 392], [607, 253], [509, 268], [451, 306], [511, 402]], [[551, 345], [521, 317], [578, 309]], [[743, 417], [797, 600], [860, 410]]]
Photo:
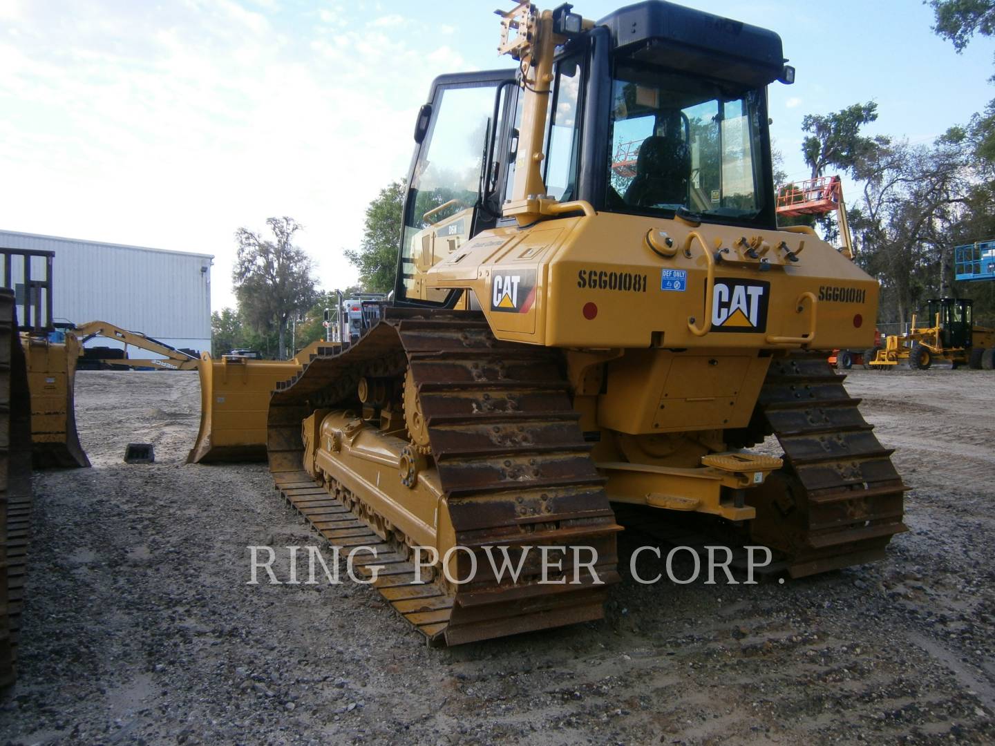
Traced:
[[636, 157], [636, 177], [625, 192], [634, 207], [686, 205], [691, 177], [691, 150], [680, 137], [651, 135]]

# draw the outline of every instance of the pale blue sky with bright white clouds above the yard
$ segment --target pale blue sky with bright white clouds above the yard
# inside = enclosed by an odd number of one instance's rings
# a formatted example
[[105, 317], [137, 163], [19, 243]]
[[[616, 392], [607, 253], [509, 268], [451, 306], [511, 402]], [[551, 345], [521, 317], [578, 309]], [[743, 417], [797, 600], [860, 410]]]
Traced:
[[[995, 42], [956, 54], [919, 0], [686, 4], [780, 34], [798, 73], [770, 88], [771, 129], [790, 178], [808, 175], [806, 113], [875, 100], [868, 133], [928, 143], [995, 97]], [[352, 284], [342, 252], [406, 175], [432, 79], [509, 66], [497, 6], [0, 0], [0, 229], [214, 255], [220, 309], [235, 231], [287, 215], [319, 286]]]

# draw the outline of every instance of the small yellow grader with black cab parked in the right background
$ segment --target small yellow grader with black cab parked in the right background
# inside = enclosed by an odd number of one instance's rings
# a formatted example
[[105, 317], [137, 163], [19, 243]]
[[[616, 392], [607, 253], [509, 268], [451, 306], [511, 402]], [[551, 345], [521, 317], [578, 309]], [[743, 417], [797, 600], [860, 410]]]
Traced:
[[931, 298], [926, 307], [932, 324], [919, 325], [913, 313], [907, 332], [890, 334], [884, 347], [869, 351], [874, 353], [871, 368], [891, 370], [905, 363], [912, 370], [928, 370], [936, 360], [953, 368], [995, 368], [995, 329], [974, 323], [972, 300]]

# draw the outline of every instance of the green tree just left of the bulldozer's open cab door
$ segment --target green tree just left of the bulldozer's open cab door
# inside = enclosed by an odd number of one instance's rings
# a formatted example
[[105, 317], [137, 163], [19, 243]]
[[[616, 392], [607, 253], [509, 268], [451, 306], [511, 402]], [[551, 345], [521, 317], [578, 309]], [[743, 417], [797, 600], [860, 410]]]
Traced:
[[391, 182], [366, 208], [363, 240], [358, 251], [346, 251], [345, 258], [359, 270], [359, 281], [371, 292], [394, 288], [397, 251], [401, 240], [404, 210], [404, 180]]

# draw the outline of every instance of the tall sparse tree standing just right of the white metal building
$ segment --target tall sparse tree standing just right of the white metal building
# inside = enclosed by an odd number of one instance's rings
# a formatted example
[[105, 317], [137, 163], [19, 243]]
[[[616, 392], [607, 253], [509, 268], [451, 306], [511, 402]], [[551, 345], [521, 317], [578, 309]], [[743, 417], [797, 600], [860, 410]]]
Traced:
[[244, 321], [264, 337], [277, 336], [277, 356], [286, 359], [291, 318], [314, 299], [313, 264], [294, 245], [300, 225], [293, 218], [270, 218], [274, 240], [247, 228], [235, 232], [238, 255], [232, 281]]

